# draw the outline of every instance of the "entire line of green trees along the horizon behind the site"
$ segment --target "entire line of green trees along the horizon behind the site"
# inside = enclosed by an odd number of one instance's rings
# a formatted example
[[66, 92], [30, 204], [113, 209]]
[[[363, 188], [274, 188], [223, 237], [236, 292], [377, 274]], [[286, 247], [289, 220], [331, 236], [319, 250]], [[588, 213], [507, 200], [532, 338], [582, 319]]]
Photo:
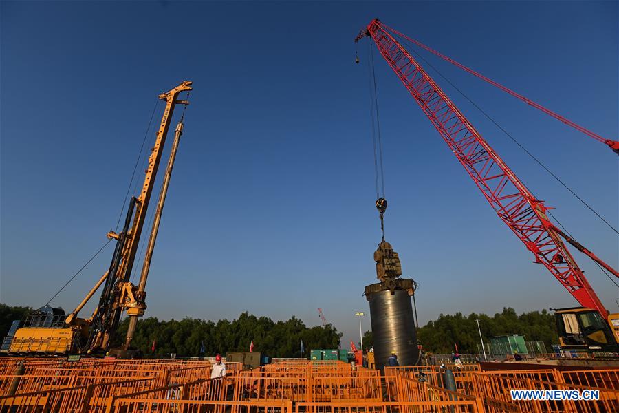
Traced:
[[[23, 319], [28, 310], [31, 309], [0, 304], [0, 335], [8, 332], [12, 320]], [[461, 313], [441, 314], [438, 319], [418, 328], [417, 340], [424, 350], [430, 352], [451, 352], [456, 343], [459, 352], [476, 353], [479, 332], [475, 319], [479, 319], [481, 335], [486, 343], [493, 336], [521, 334], [526, 341], [543, 341], [550, 351], [552, 343], [558, 341], [554, 315], [546, 310], [517, 315], [513, 308], [503, 308], [501, 313], [492, 317], [476, 313], [468, 316]], [[118, 344], [124, 338], [127, 324], [127, 319], [120, 324], [116, 336]], [[142, 350], [146, 355], [166, 356], [176, 353], [179, 357], [202, 354], [212, 356], [228, 351], [248, 351], [253, 340], [254, 351], [271, 357], [309, 357], [310, 350], [314, 348], [338, 348], [341, 337], [342, 334], [331, 324], [325, 327], [308, 327], [294, 316], [286, 321], [273, 321], [268, 317], [241, 313], [232, 321], [224, 319], [217, 322], [188, 317], [169, 321], [147, 317], [138, 321], [133, 347]], [[153, 341], [155, 352], [152, 351]], [[363, 347], [371, 348], [372, 345], [371, 331], [367, 331], [363, 337]], [[348, 343], [342, 343], [342, 347], [348, 348]], [[204, 350], [204, 353], [200, 350]]]

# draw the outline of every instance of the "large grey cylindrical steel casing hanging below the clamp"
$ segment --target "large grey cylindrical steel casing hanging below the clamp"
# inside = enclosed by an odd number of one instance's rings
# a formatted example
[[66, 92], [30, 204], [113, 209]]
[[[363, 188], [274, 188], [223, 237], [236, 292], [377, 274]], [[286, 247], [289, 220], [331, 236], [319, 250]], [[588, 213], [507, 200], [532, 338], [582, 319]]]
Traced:
[[367, 295], [370, 305], [374, 360], [384, 372], [391, 352], [400, 366], [414, 366], [419, 357], [411, 296], [406, 290], [377, 291]]

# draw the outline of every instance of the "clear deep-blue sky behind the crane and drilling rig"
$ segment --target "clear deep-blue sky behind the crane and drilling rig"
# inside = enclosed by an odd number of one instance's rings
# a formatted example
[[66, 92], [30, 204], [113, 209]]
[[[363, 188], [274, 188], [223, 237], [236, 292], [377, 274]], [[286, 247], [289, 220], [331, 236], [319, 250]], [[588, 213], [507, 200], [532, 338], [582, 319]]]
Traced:
[[[0, 4], [6, 304], [45, 304], [105, 242], [155, 96], [191, 80], [147, 315], [215, 320], [249, 311], [316, 325], [321, 307], [345, 343], [358, 337], [354, 312], [369, 313], [362, 292], [376, 281], [380, 226], [367, 39], [359, 65], [353, 39], [373, 17], [602, 136], [619, 135], [616, 1]], [[619, 226], [616, 155], [422, 56]], [[576, 305], [532, 264], [378, 56], [376, 75], [386, 235], [404, 275], [420, 283], [420, 321], [503, 306]], [[533, 193], [556, 207], [574, 237], [617, 268], [616, 233], [437, 82]], [[52, 304], [72, 310], [111, 253], [108, 246]], [[575, 256], [603, 303], [618, 310], [617, 288], [587, 257]], [[369, 328], [369, 318], [364, 323]]]

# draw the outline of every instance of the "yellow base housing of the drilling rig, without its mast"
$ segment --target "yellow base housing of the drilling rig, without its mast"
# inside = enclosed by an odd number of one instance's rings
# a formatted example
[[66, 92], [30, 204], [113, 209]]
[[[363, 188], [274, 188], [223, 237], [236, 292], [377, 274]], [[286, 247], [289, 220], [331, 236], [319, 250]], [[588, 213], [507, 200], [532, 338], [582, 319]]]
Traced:
[[73, 328], [25, 327], [19, 328], [11, 341], [11, 354], [56, 353], [67, 354], [80, 332]]

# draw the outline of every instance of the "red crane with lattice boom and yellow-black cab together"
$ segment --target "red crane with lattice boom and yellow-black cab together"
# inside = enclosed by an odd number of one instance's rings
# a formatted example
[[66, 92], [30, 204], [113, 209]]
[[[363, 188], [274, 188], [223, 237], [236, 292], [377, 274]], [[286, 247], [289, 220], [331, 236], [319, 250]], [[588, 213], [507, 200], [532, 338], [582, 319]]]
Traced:
[[[557, 311], [563, 346], [616, 351], [619, 314], [609, 315], [561, 237], [616, 277], [619, 273], [550, 222], [543, 201], [536, 199], [525, 187], [392, 33], [399, 34], [374, 19], [355, 41], [371, 37], [384, 60], [415, 98], [499, 218], [535, 255], [535, 262], [543, 264], [585, 307], [570, 308], [567, 313], [567, 309]], [[580, 329], [574, 326], [580, 326]]]

